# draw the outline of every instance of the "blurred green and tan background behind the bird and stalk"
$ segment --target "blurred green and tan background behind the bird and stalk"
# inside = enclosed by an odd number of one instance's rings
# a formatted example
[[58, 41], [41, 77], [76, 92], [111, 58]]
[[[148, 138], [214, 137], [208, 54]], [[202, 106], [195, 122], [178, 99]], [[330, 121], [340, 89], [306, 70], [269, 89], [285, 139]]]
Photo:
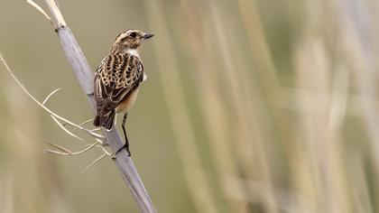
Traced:
[[[60, 9], [93, 69], [118, 32], [156, 34], [143, 45], [148, 80], [128, 136], [158, 212], [379, 211], [377, 1], [61, 0]], [[23, 85], [41, 101], [63, 88], [48, 106], [77, 124], [91, 118], [50, 23], [24, 1], [1, 0], [0, 17], [0, 51]], [[110, 158], [81, 174], [100, 150], [42, 152], [46, 142], [83, 144], [3, 65], [0, 88], [0, 212], [138, 212]]]

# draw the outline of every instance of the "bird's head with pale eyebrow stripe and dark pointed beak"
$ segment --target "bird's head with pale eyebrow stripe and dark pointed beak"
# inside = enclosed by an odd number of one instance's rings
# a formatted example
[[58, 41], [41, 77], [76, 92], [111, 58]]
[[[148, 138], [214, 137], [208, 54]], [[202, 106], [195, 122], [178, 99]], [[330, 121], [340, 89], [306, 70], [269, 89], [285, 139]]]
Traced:
[[112, 44], [111, 52], [127, 51], [134, 55], [139, 55], [142, 42], [152, 38], [154, 34], [139, 30], [127, 30], [120, 32], [115, 42]]

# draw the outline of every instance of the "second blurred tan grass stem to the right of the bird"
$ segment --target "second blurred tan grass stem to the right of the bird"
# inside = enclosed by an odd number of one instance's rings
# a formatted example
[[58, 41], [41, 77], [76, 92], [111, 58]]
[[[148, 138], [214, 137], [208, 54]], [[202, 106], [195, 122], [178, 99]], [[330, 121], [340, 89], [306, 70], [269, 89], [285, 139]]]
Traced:
[[[233, 193], [237, 194], [240, 201], [231, 200], [228, 198], [230, 188], [226, 188], [228, 180], [226, 177], [238, 177], [238, 169], [236, 167], [236, 159], [233, 158], [233, 143], [236, 142], [231, 137], [231, 130], [227, 125], [228, 121], [226, 116], [228, 112], [220, 94], [215, 77], [214, 67], [211, 66], [210, 54], [207, 51], [208, 39], [217, 35], [209, 36], [203, 29], [207, 28], [208, 22], [200, 22], [199, 14], [193, 9], [193, 5], [189, 2], [181, 1], [183, 13], [185, 15], [186, 22], [183, 22], [183, 26], [186, 26], [188, 33], [184, 36], [183, 42], [188, 42], [186, 48], [188, 48], [191, 59], [196, 64], [195, 69], [191, 71], [193, 79], [199, 81], [197, 88], [197, 96], [199, 97], [199, 103], [203, 110], [204, 122], [206, 123], [207, 133], [209, 134], [210, 152], [214, 158], [214, 162], [217, 167], [217, 174], [221, 185], [221, 191], [223, 192], [224, 199], [227, 199], [229, 212], [246, 212], [246, 198], [244, 189], [235, 184]], [[208, 23], [208, 24], [207, 24]], [[221, 73], [218, 73], [221, 75]], [[238, 139], [237, 139], [238, 140]]]

